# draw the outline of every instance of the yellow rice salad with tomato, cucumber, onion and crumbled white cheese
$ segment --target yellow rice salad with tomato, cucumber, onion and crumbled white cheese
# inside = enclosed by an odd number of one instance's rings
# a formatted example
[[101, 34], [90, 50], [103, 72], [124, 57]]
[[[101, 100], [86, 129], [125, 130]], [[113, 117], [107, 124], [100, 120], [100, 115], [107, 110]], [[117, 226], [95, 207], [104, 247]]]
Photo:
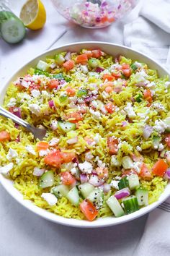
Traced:
[[65, 218], [121, 217], [170, 179], [170, 82], [147, 64], [99, 49], [40, 60], [6, 90], [0, 173], [25, 200]]

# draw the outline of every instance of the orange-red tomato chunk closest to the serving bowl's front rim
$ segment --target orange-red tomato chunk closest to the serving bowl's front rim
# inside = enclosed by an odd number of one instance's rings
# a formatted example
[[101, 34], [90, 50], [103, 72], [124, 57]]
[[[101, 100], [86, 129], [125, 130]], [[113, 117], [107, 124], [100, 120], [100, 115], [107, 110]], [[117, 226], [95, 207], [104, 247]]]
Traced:
[[84, 216], [88, 219], [88, 221], [93, 221], [94, 218], [97, 217], [98, 210], [89, 200], [84, 200], [80, 204], [80, 210], [84, 213]]

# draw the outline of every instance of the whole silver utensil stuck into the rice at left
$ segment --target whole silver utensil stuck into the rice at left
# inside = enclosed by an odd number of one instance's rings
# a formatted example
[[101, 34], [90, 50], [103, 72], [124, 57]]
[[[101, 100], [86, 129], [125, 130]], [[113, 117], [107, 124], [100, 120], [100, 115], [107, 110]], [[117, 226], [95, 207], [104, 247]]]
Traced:
[[5, 108], [2, 108], [0, 106], [0, 115], [7, 117], [9, 119], [12, 119], [15, 123], [21, 125], [22, 127], [28, 129], [30, 132], [32, 132], [32, 135], [34, 135], [35, 139], [42, 140], [46, 135], [46, 129], [45, 128], [36, 128], [32, 125], [28, 124], [27, 121], [24, 121], [20, 119], [18, 116], [15, 116], [11, 112], [7, 111]]

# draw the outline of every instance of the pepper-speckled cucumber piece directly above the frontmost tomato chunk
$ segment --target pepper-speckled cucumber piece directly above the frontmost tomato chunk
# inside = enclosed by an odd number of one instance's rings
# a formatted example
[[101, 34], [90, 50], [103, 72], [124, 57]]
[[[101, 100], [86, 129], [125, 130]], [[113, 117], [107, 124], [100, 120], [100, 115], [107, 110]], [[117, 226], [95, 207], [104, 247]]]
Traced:
[[104, 193], [102, 189], [95, 187], [93, 191], [88, 195], [87, 199], [100, 208], [103, 204]]

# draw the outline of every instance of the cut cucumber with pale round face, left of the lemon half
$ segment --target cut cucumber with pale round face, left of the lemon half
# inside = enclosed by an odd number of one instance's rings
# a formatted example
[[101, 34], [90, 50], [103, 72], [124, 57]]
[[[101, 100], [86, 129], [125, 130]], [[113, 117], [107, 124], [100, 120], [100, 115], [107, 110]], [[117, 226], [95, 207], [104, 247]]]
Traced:
[[25, 36], [24, 24], [12, 12], [0, 12], [0, 33], [7, 43], [19, 43]]

